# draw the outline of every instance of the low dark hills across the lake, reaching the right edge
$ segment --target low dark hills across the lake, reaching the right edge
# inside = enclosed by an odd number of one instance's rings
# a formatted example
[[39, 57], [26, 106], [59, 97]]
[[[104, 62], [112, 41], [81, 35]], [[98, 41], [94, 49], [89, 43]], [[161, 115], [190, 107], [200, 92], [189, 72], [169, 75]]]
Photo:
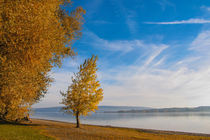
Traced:
[[[154, 112], [210, 112], [210, 106], [199, 106], [199, 107], [185, 107], [185, 108], [159, 108], [159, 109], [131, 109], [131, 110], [120, 110], [115, 113], [154, 113]], [[105, 113], [114, 113], [114, 111], [105, 111]]]

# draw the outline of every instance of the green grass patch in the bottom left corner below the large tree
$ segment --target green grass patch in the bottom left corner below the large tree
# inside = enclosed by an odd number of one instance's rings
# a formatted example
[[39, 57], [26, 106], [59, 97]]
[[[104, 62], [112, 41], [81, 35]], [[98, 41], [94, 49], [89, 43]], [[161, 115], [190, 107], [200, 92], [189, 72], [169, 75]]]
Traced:
[[0, 140], [54, 140], [26, 125], [0, 124]]

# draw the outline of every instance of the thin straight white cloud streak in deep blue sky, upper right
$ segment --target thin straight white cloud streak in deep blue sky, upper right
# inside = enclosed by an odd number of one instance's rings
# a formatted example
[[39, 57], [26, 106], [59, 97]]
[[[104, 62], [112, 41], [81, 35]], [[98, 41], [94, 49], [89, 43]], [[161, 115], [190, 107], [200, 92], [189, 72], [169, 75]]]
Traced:
[[209, 24], [210, 20], [207, 19], [199, 19], [199, 18], [192, 18], [188, 20], [180, 20], [180, 21], [170, 21], [170, 22], [144, 22], [145, 24]]

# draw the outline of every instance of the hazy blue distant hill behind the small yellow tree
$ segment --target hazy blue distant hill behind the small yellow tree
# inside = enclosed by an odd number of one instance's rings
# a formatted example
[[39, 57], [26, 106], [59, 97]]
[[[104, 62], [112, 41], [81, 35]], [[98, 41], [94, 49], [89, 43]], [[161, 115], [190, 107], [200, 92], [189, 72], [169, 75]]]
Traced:
[[[34, 108], [33, 111], [38, 112], [60, 112], [62, 107], [48, 107], [48, 108]], [[152, 109], [149, 107], [134, 107], [134, 106], [99, 106], [96, 113], [104, 112], [118, 112], [118, 111], [131, 111], [131, 110], [147, 110]]]

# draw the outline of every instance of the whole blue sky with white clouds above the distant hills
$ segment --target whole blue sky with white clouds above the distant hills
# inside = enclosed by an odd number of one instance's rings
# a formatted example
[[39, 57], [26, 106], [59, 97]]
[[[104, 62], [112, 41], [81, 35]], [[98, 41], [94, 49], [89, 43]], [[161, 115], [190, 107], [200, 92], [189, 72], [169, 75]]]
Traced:
[[33, 107], [61, 106], [71, 76], [98, 55], [100, 105], [210, 106], [208, 0], [75, 0], [86, 10], [78, 53], [53, 68], [54, 82]]

